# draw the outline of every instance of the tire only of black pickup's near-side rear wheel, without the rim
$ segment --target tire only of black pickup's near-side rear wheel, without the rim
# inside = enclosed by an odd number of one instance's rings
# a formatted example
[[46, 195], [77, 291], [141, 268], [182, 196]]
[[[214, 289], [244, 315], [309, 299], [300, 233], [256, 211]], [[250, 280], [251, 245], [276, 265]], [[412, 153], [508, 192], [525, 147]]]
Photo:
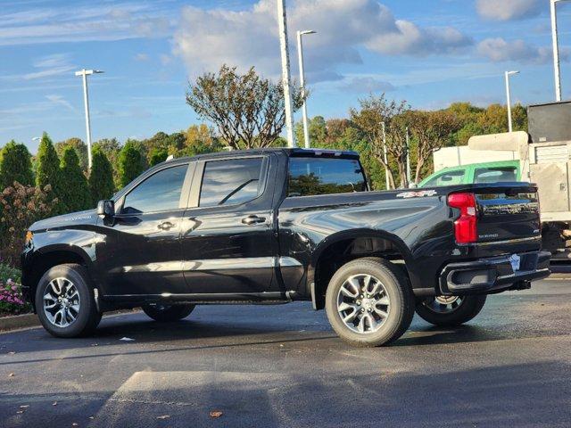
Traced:
[[[378, 321], [380, 322], [378, 324], [380, 326], [376, 327], [377, 330], [363, 333], [355, 332], [343, 322], [341, 313], [338, 310], [339, 299], [343, 300], [341, 287], [353, 276], [373, 276], [385, 289], [383, 295], [386, 294], [388, 296], [390, 309], [387, 306], [387, 316], [383, 319], [379, 318]], [[363, 288], [360, 288], [360, 292], [361, 290]], [[377, 308], [377, 304], [374, 307]], [[335, 333], [343, 341], [352, 344], [352, 346], [375, 347], [397, 340], [409, 328], [414, 316], [414, 307], [415, 300], [408, 278], [402, 274], [400, 268], [385, 259], [363, 258], [352, 260], [335, 272], [327, 287], [326, 312], [329, 323], [335, 330]], [[354, 313], [358, 313], [358, 311], [355, 309]], [[363, 315], [367, 316], [366, 313], [363, 313]], [[372, 325], [369, 325], [369, 327], [372, 328]]]

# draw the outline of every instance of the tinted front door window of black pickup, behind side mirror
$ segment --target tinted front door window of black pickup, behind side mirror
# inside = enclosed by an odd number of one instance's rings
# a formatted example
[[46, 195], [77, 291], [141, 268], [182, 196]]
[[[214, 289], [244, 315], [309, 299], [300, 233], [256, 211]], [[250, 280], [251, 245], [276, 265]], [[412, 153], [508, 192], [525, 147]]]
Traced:
[[188, 165], [180, 165], [148, 177], [128, 193], [123, 204], [124, 214], [177, 210]]

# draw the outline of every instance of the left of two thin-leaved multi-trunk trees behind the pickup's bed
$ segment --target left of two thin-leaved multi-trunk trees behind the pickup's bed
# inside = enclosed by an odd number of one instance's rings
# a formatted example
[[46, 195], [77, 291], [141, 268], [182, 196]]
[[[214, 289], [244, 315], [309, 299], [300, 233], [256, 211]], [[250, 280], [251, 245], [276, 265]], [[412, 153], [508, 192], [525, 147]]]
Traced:
[[383, 141], [383, 123], [386, 132], [386, 151], [392, 158], [399, 170], [399, 182], [401, 187], [408, 187], [406, 174], [406, 128], [410, 106], [405, 102], [389, 101], [385, 94], [369, 95], [368, 98], [359, 100], [360, 109], [351, 109], [351, 120], [357, 125], [370, 144], [371, 151], [375, 154], [385, 169], [389, 171], [389, 185], [395, 187], [395, 177], [390, 166], [385, 162], [385, 143]]

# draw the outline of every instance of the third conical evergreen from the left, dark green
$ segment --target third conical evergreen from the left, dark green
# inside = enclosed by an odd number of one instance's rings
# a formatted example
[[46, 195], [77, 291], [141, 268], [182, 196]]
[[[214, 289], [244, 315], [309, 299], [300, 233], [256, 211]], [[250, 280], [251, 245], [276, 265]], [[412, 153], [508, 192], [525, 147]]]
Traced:
[[87, 210], [91, 204], [91, 194], [87, 178], [79, 165], [79, 156], [71, 146], [63, 151], [61, 166], [62, 202], [69, 211]]

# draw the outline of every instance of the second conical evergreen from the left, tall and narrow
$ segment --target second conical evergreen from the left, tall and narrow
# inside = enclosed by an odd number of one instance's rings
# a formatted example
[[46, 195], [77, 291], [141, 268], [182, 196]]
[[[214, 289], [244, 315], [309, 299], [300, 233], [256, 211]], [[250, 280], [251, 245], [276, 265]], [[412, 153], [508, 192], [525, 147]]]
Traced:
[[[54, 143], [45, 132], [37, 149], [36, 185], [40, 189], [50, 186], [53, 213], [62, 214], [66, 207], [62, 202], [62, 180], [60, 177], [60, 158], [55, 152]], [[57, 201], [55, 201], [57, 200]]]

